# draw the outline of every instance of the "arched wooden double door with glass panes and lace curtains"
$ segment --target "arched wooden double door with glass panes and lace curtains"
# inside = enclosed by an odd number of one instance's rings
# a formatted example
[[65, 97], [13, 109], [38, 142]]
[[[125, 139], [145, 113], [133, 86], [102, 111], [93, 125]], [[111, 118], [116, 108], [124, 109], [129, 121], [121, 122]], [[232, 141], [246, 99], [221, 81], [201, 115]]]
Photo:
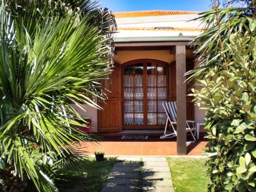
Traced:
[[155, 59], [122, 65], [123, 130], [164, 128], [162, 103], [169, 100], [168, 68], [168, 63]]

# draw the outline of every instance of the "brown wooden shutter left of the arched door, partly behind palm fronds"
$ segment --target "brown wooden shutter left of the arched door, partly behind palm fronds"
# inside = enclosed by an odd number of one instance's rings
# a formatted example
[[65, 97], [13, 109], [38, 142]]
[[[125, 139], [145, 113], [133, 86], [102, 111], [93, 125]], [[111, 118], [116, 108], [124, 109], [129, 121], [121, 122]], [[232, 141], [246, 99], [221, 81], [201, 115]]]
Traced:
[[110, 80], [102, 83], [108, 99], [98, 104], [103, 110], [98, 110], [98, 130], [99, 132], [121, 131], [121, 67], [114, 65]]

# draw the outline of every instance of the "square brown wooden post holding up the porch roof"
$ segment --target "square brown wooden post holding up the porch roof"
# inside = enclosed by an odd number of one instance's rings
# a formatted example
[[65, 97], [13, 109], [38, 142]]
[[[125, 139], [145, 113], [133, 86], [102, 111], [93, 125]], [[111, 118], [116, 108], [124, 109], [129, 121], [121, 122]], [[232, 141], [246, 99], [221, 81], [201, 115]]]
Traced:
[[186, 155], [186, 47], [176, 46], [177, 155]]

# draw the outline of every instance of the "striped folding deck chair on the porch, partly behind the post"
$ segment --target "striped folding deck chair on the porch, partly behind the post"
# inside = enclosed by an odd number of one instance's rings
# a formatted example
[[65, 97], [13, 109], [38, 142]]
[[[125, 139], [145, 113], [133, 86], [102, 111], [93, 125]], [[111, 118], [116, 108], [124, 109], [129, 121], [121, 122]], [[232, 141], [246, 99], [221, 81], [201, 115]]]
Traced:
[[[160, 139], [167, 139], [167, 138], [172, 138], [172, 137], [177, 137], [177, 131], [175, 130], [174, 124], [177, 124], [177, 105], [176, 102], [163, 102], [163, 109], [167, 115], [166, 119], [166, 124], [165, 124], [165, 129], [164, 129], [164, 135], [160, 137]], [[168, 123], [172, 127], [173, 133], [166, 134], [167, 131], [167, 126]], [[192, 125], [191, 127], [189, 126], [189, 123]], [[195, 126], [195, 121], [190, 121], [186, 120], [186, 132], [190, 132], [194, 141], [196, 141], [196, 138], [193, 134], [192, 131], [195, 131], [196, 133], [196, 126]], [[170, 131], [172, 131], [170, 130]], [[190, 143], [191, 141], [187, 142]]]

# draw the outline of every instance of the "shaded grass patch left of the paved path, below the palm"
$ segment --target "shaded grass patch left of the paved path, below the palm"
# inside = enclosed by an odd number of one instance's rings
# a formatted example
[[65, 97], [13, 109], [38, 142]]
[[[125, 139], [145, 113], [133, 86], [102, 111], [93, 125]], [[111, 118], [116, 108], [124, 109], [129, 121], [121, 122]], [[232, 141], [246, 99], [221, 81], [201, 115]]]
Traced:
[[74, 169], [60, 169], [59, 174], [63, 180], [57, 183], [59, 191], [100, 191], [116, 162], [118, 160], [115, 158], [108, 158], [102, 162], [95, 161], [95, 158], [88, 158], [79, 163], [78, 172]]

